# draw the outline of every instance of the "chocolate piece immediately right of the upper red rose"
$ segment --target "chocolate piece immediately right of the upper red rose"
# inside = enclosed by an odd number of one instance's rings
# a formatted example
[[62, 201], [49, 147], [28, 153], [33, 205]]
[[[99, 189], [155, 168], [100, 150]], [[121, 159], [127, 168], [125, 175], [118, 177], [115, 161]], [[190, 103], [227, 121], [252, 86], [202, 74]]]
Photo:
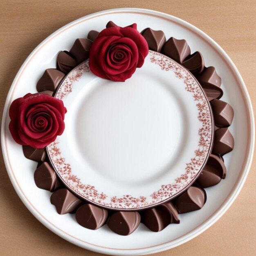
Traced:
[[166, 42], [166, 38], [162, 30], [153, 30], [147, 28], [142, 31], [141, 34], [148, 42], [148, 48], [150, 50], [153, 50], [155, 52], [161, 51], [164, 43]]

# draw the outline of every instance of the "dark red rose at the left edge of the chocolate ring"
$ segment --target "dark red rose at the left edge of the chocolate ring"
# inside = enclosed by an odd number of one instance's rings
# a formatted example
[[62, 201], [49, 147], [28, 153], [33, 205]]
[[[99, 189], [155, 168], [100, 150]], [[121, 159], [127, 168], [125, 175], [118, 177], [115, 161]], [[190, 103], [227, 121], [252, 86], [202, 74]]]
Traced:
[[18, 144], [44, 148], [63, 133], [66, 112], [61, 100], [40, 93], [28, 93], [11, 103], [11, 135]]

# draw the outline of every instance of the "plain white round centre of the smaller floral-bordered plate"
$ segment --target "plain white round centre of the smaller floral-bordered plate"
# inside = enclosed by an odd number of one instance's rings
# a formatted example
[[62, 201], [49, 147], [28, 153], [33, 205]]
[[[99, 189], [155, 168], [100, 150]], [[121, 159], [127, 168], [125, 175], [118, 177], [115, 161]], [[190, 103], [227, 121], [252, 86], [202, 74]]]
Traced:
[[185, 113], [171, 90], [175, 80], [161, 81], [160, 74], [138, 70], [125, 83], [95, 79], [73, 102], [73, 144], [82, 161], [111, 181], [152, 182], [178, 157]]

